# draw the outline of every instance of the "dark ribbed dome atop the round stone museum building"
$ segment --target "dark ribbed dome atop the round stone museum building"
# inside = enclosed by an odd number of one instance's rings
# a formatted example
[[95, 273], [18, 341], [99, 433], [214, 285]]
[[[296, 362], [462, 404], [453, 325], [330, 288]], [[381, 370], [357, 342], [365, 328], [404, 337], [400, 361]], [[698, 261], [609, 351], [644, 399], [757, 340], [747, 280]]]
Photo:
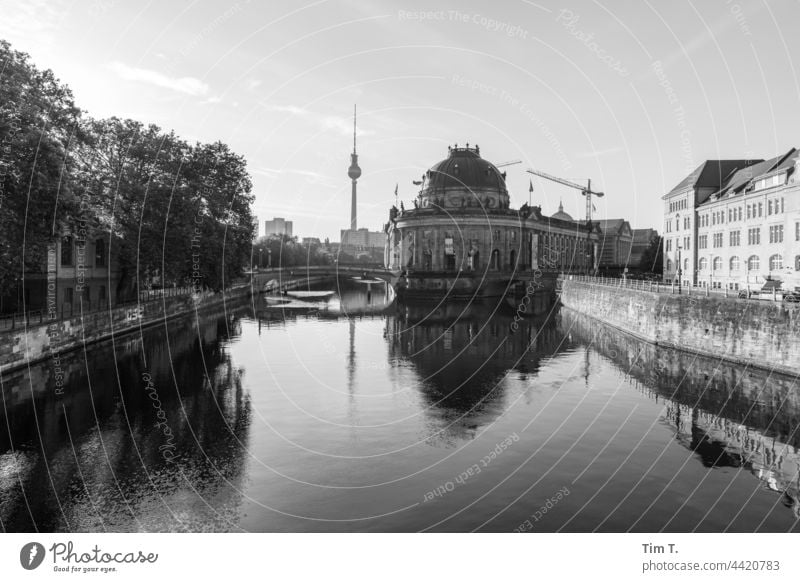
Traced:
[[480, 156], [478, 146], [448, 150], [450, 155], [423, 176], [423, 207], [508, 208], [505, 175]]

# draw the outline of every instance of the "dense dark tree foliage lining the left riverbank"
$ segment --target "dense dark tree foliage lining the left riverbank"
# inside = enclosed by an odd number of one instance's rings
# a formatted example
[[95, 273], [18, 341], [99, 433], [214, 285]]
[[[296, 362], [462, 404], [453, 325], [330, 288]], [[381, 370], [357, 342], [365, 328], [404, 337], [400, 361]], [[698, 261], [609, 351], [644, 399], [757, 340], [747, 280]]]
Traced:
[[109, 241], [118, 296], [156, 279], [218, 290], [249, 264], [253, 196], [242, 156], [155, 125], [88, 117], [50, 71], [4, 41], [0, 148], [3, 288], [40, 270], [46, 244], [79, 221]]

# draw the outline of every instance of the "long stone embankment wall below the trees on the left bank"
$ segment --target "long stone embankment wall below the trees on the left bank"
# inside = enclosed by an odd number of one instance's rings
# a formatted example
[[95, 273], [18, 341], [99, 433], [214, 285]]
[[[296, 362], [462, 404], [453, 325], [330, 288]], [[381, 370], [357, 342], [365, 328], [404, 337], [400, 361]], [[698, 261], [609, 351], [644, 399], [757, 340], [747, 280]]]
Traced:
[[[0, 334], [0, 373], [59, 355], [86, 344], [123, 335], [197, 310], [249, 297], [250, 285], [199, 297], [184, 295], [114, 307], [69, 319], [47, 321]], [[57, 362], [56, 362], [57, 363]]]

